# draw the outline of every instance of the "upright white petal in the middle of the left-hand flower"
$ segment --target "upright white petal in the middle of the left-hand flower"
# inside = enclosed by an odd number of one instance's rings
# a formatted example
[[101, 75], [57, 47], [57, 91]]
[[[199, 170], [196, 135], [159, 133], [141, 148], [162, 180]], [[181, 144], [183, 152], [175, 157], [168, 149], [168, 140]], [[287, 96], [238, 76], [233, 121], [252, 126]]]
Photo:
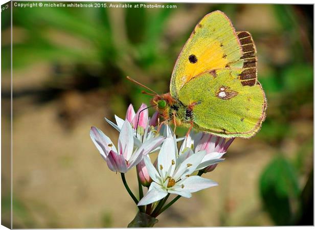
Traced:
[[123, 155], [126, 160], [129, 160], [133, 152], [133, 131], [130, 123], [126, 120], [122, 126], [119, 140], [118, 153]]

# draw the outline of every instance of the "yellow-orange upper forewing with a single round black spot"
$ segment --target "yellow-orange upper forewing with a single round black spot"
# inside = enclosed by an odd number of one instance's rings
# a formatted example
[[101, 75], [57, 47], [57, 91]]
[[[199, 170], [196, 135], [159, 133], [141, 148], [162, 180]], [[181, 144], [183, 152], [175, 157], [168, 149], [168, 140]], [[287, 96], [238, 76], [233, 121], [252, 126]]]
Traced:
[[[240, 37], [244, 35], [241, 34]], [[245, 38], [245, 46], [241, 46], [239, 34], [221, 11], [207, 14], [198, 22], [176, 60], [170, 82], [171, 96], [177, 99], [180, 88], [194, 76], [208, 70], [242, 68], [241, 57], [246, 48], [249, 48], [246, 44], [249, 40]], [[246, 54], [245, 58], [248, 58], [250, 53]], [[248, 60], [252, 63], [252, 60]]]

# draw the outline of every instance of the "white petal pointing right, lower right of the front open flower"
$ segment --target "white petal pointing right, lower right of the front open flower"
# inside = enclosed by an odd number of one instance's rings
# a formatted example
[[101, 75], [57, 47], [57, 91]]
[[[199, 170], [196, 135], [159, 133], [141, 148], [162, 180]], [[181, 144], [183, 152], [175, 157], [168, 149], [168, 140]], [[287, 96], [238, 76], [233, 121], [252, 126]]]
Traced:
[[207, 189], [213, 186], [217, 186], [218, 183], [213, 180], [206, 179], [200, 176], [190, 176], [184, 180], [178, 181], [176, 185], [177, 186], [184, 185], [184, 188], [183, 188], [184, 190], [187, 190], [190, 193], [194, 193], [202, 189]]

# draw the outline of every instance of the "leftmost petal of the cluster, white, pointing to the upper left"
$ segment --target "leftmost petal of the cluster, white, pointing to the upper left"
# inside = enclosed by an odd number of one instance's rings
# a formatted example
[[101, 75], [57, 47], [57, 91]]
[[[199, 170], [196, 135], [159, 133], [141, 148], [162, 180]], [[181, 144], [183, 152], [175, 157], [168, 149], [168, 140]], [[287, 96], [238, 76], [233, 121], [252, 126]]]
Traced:
[[110, 150], [114, 150], [117, 152], [115, 145], [111, 142], [109, 137], [106, 136], [100, 129], [92, 127], [90, 129], [90, 138], [92, 139], [104, 159], [107, 157]]

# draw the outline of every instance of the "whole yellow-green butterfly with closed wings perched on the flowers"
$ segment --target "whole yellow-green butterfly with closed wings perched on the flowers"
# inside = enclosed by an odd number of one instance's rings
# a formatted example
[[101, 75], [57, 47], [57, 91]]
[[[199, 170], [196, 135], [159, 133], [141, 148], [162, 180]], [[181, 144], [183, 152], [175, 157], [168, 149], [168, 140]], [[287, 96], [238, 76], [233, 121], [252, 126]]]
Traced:
[[207, 14], [176, 60], [170, 93], [153, 96], [161, 117], [188, 133], [194, 128], [225, 138], [254, 136], [267, 103], [251, 34], [236, 32], [221, 11]]

